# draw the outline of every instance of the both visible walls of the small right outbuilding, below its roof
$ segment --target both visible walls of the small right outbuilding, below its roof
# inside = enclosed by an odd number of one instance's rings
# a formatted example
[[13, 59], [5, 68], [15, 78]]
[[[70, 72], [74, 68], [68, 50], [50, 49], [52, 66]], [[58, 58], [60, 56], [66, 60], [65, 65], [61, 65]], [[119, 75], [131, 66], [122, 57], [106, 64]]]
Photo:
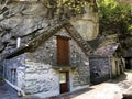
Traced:
[[[123, 58], [122, 58], [123, 61]], [[90, 80], [99, 84], [124, 73], [124, 63], [119, 57], [90, 57]]]

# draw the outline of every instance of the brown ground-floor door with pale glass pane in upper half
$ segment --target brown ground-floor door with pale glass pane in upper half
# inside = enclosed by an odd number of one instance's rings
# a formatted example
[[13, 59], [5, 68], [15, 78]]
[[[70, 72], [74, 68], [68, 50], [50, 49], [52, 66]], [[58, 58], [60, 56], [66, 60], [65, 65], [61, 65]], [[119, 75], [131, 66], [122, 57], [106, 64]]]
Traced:
[[61, 72], [59, 73], [61, 94], [68, 92], [68, 80], [69, 80], [68, 72]]

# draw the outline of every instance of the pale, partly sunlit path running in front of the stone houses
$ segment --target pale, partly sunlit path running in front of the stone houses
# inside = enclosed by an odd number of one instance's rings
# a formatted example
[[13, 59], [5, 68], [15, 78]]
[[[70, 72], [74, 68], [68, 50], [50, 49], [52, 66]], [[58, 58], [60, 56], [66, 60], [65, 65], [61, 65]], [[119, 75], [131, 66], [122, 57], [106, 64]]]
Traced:
[[[56, 97], [45, 99], [122, 99], [122, 94], [132, 86], [132, 70], [125, 72], [121, 77], [102, 82], [99, 85], [90, 86], [89, 88], [64, 94]], [[42, 95], [43, 97], [43, 95]], [[0, 99], [41, 99], [34, 96], [18, 97], [16, 92], [8, 85], [0, 86]], [[44, 99], [44, 98], [43, 98]]]

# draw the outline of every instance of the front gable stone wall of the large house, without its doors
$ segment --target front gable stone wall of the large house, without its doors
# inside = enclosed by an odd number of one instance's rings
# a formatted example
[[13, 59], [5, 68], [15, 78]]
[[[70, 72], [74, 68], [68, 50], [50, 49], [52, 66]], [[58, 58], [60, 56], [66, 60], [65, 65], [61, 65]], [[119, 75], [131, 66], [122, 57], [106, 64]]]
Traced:
[[[56, 35], [70, 37], [65, 30]], [[69, 47], [70, 66], [66, 70], [69, 70], [69, 90], [73, 91], [89, 85], [89, 61], [73, 38]], [[25, 92], [43, 92], [45, 97], [59, 94], [59, 69], [53, 68], [57, 66], [56, 48], [56, 36], [52, 36], [35, 52], [25, 54]]]

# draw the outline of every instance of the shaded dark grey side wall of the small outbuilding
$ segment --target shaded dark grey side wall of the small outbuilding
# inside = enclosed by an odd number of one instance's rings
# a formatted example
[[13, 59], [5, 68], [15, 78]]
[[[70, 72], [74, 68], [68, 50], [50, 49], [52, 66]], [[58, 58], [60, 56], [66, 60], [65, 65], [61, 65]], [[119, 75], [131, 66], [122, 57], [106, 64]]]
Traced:
[[89, 66], [91, 84], [99, 84], [110, 78], [111, 64], [108, 57], [90, 57]]

